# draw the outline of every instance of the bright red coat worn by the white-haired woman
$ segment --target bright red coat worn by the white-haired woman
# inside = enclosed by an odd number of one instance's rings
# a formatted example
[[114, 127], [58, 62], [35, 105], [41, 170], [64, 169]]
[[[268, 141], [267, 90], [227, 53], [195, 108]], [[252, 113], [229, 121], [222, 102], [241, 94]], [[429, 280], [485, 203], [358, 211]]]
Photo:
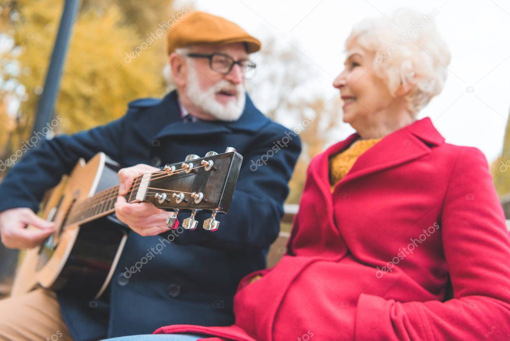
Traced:
[[[245, 277], [236, 325], [168, 326], [234, 340], [508, 340], [510, 238], [483, 154], [429, 118], [383, 138], [336, 185], [314, 158], [287, 254]], [[262, 279], [248, 284], [251, 277]], [[442, 302], [451, 278], [454, 299]]]

